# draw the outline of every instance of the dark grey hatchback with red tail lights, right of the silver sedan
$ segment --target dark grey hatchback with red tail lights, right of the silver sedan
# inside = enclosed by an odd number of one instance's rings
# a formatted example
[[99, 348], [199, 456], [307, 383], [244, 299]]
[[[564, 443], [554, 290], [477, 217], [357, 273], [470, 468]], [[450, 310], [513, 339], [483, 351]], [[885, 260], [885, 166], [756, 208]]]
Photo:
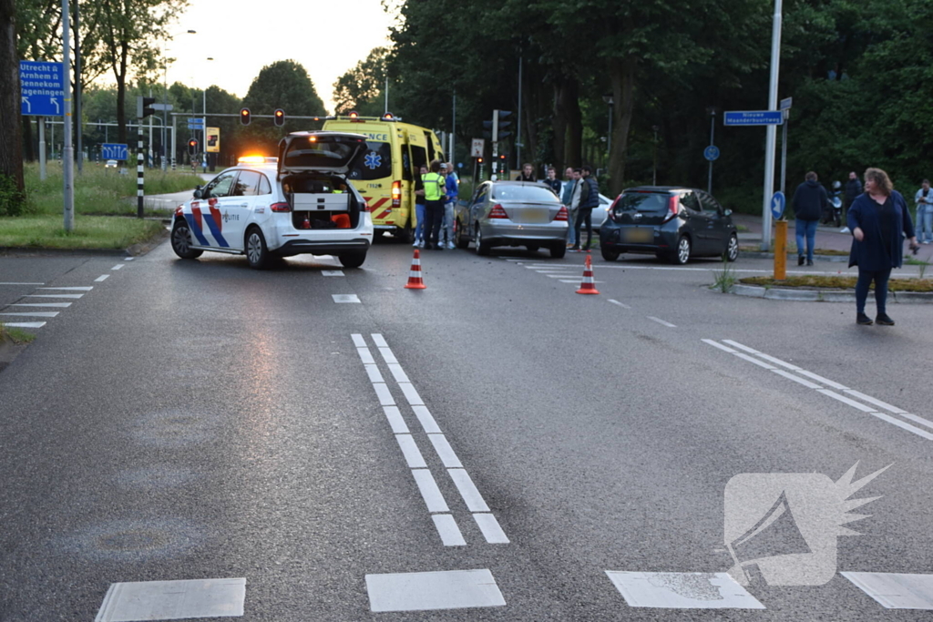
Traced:
[[739, 239], [731, 210], [696, 188], [639, 186], [624, 190], [599, 229], [606, 261], [622, 253], [654, 253], [675, 264], [690, 257], [735, 261]]

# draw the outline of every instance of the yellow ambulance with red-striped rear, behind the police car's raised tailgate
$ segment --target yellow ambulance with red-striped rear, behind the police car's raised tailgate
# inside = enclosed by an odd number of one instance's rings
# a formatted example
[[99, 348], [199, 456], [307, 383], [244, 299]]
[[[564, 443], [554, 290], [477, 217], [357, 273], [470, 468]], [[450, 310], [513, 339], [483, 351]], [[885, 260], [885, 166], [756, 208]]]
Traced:
[[327, 117], [327, 131], [363, 134], [366, 154], [356, 160], [349, 177], [369, 203], [372, 225], [377, 235], [391, 232], [403, 242], [411, 242], [415, 226], [414, 180], [419, 167], [433, 159], [444, 161], [443, 145], [434, 131], [397, 117]]

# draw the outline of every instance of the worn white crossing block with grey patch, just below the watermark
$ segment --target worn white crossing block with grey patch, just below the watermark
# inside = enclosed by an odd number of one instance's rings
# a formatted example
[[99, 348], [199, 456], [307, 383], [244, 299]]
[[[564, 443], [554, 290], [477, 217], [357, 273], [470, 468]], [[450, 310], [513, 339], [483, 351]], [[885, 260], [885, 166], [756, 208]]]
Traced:
[[728, 573], [630, 573], [606, 576], [630, 607], [656, 609], [764, 609]]

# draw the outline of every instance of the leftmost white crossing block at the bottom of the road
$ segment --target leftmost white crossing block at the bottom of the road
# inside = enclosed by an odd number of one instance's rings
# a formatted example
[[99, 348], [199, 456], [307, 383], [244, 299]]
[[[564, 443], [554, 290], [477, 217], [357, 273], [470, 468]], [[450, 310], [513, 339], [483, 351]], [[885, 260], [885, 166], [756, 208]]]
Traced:
[[244, 615], [246, 579], [112, 583], [94, 622]]

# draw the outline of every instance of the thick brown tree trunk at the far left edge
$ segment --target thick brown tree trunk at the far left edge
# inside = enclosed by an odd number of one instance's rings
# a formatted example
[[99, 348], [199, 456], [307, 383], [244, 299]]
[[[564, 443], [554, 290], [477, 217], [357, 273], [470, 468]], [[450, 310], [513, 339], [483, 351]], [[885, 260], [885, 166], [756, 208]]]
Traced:
[[0, 0], [0, 214], [19, 214], [24, 200], [15, 11], [13, 0]]

